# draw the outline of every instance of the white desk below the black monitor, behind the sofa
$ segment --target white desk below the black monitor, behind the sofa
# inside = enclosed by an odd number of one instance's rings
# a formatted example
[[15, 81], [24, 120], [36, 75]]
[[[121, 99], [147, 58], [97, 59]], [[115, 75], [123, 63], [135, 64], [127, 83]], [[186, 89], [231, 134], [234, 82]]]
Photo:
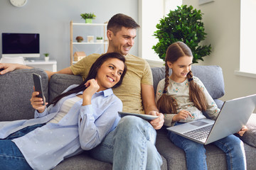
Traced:
[[57, 62], [56, 60], [49, 60], [46, 62], [45, 60], [25, 60], [26, 65], [48, 70], [50, 72], [57, 72]]

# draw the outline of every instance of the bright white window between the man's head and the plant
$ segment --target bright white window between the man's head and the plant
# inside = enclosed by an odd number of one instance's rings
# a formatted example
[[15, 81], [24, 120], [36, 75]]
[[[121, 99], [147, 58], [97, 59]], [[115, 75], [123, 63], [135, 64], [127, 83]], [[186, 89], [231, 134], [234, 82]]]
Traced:
[[152, 49], [158, 42], [153, 34], [160, 19], [181, 4], [182, 0], [139, 0], [139, 57], [148, 60], [149, 64], [154, 61], [163, 66], [163, 60]]

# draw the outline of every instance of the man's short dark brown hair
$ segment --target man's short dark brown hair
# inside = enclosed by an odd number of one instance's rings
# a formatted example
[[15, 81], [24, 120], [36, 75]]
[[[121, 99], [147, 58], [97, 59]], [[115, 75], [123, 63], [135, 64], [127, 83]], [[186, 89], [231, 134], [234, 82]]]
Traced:
[[107, 30], [111, 30], [114, 34], [116, 34], [119, 30], [124, 28], [139, 28], [139, 24], [137, 24], [133, 18], [124, 15], [122, 13], [117, 13], [116, 15], [110, 18], [110, 21], [107, 23]]

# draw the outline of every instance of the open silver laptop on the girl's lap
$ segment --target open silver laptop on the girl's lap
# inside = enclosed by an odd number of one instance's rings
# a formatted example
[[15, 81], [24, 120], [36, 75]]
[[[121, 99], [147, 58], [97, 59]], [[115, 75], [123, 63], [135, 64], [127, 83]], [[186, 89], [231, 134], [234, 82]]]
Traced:
[[255, 110], [256, 94], [225, 101], [216, 120], [203, 118], [176, 125], [167, 130], [195, 142], [207, 145], [239, 132]]

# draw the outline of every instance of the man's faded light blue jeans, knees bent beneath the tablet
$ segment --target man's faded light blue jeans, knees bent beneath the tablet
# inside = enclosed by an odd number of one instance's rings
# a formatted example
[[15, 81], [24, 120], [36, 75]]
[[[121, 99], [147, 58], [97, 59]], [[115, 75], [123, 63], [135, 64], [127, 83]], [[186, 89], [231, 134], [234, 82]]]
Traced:
[[142, 118], [124, 116], [117, 128], [92, 149], [95, 159], [113, 164], [113, 169], [161, 169], [162, 159], [155, 147], [156, 130]]

